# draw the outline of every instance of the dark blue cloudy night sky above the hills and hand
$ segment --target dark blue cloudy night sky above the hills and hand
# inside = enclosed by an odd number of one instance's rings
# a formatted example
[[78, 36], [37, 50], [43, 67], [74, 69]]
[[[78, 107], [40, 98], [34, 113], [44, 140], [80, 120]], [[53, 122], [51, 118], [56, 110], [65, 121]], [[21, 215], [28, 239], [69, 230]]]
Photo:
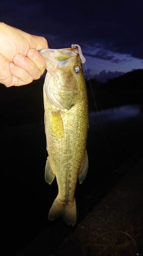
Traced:
[[1, 22], [44, 36], [49, 48], [80, 45], [90, 78], [104, 82], [143, 68], [142, 0], [5, 0], [0, 5]]

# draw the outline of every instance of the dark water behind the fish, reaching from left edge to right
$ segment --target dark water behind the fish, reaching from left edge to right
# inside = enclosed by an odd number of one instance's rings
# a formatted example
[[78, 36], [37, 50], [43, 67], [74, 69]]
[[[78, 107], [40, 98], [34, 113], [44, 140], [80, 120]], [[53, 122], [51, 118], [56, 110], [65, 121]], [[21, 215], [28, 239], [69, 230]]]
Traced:
[[[89, 114], [89, 172], [82, 185], [77, 183], [78, 221], [81, 209], [84, 211], [84, 203], [80, 203], [83, 196], [99, 182], [102, 186], [102, 180], [113, 173], [113, 168], [143, 145], [141, 105], [99, 111], [99, 117], [102, 129], [97, 113]], [[47, 152], [43, 120], [2, 126], [1, 147], [3, 237], [14, 255], [42, 230], [54, 229], [55, 222], [49, 222], [47, 215], [58, 188], [55, 180], [50, 186], [44, 180]], [[62, 219], [56, 223], [65, 225]], [[67, 225], [64, 228], [65, 233], [70, 230]]]

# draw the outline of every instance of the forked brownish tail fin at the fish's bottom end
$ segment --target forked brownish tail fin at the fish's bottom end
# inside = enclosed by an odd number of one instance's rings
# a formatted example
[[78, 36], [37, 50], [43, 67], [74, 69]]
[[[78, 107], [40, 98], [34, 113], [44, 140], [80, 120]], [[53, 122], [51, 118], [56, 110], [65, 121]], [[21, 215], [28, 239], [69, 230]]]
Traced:
[[75, 199], [73, 203], [64, 204], [59, 199], [58, 196], [55, 198], [48, 215], [48, 220], [53, 221], [58, 217], [63, 217], [64, 221], [68, 225], [74, 226], [76, 223], [76, 202]]

